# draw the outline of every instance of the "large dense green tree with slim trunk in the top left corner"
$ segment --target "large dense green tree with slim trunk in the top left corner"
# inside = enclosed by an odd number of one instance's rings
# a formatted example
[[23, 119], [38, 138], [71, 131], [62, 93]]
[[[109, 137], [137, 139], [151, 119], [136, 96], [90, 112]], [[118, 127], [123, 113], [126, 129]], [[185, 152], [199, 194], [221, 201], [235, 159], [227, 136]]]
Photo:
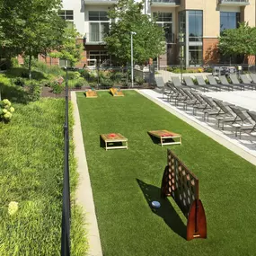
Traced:
[[6, 55], [31, 57], [56, 49], [62, 40], [65, 21], [58, 16], [61, 0], [2, 0], [0, 27]]

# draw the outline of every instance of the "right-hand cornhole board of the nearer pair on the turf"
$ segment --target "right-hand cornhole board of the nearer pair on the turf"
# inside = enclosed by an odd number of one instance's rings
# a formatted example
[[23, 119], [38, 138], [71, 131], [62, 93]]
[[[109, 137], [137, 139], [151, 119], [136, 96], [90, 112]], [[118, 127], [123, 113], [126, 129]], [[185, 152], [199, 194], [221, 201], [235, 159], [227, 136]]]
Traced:
[[[163, 145], [175, 145], [181, 144], [181, 134], [174, 133], [172, 131], [168, 131], [166, 129], [163, 130], [151, 130], [148, 132], [151, 136], [160, 138], [160, 144]], [[172, 138], [172, 141], [170, 141]]]

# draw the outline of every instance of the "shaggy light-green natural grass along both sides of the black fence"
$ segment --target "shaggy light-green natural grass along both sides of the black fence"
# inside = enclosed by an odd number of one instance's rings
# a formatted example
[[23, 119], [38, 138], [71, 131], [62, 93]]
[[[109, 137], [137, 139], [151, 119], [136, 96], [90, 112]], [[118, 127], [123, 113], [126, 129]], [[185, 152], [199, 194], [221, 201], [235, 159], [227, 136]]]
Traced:
[[[41, 99], [17, 104], [20, 98], [15, 97], [23, 91], [18, 88], [15, 94], [17, 87], [8, 86], [2, 97], [10, 96], [15, 112], [10, 123], [0, 122], [0, 255], [56, 256], [61, 237], [65, 102]], [[72, 193], [75, 166], [71, 141]], [[13, 215], [8, 213], [11, 201], [18, 203]], [[84, 256], [83, 215], [72, 203], [72, 255]]]

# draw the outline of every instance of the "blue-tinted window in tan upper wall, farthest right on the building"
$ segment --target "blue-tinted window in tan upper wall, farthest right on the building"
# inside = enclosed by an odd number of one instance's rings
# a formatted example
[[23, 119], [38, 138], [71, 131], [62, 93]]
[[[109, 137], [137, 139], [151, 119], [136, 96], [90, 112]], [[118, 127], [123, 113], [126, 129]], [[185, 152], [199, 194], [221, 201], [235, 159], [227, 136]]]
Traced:
[[240, 22], [240, 13], [220, 12], [220, 31], [236, 29]]

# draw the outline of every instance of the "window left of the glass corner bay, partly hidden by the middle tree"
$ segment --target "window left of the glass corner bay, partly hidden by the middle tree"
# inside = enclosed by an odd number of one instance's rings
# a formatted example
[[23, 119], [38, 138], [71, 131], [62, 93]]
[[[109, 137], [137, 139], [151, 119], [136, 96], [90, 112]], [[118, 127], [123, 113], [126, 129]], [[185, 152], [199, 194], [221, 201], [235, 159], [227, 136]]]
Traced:
[[173, 43], [172, 13], [153, 13], [158, 26], [163, 28], [166, 43]]

